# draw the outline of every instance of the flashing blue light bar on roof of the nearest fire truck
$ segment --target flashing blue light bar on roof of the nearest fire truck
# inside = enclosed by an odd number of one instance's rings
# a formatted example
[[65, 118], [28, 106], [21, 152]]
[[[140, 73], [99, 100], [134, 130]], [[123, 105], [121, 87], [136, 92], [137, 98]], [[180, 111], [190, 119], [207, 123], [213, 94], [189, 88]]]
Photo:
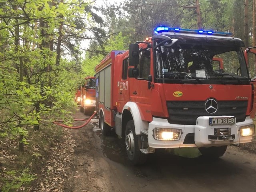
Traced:
[[198, 34], [208, 34], [208, 35], [220, 35], [220, 36], [232, 36], [232, 33], [228, 32], [216, 32], [216, 31], [204, 31], [204, 30], [194, 30], [194, 29], [181, 29], [181, 28], [172, 28], [172, 27], [166, 27], [166, 26], [159, 26], [155, 28], [154, 34], [159, 34], [162, 32], [180, 32], [180, 33], [198, 33]]

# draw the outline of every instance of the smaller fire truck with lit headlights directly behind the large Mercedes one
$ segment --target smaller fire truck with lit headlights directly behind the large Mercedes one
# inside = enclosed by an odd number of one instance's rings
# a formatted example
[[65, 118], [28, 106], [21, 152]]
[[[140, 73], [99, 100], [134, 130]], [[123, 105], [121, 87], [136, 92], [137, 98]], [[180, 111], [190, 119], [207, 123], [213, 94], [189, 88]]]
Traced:
[[81, 86], [80, 112], [92, 115], [95, 111], [95, 77], [87, 76]]

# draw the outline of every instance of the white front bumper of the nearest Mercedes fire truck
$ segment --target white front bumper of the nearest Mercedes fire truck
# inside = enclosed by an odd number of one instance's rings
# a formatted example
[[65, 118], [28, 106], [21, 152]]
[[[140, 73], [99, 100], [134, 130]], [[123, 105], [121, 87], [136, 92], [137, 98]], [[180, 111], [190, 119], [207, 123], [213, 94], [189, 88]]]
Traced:
[[[253, 124], [250, 117], [246, 117], [244, 122], [235, 123], [233, 125], [209, 125], [209, 118], [212, 118], [212, 116], [198, 117], [196, 125], [170, 124], [167, 119], [153, 118], [153, 121], [150, 122], [148, 126], [148, 146], [152, 148], [210, 147], [248, 143], [252, 141], [253, 136], [242, 137], [240, 133], [241, 126]], [[156, 140], [153, 136], [154, 128], [180, 129], [182, 133], [179, 140], [176, 141]], [[219, 131], [224, 132], [224, 136], [221, 135]], [[187, 134], [194, 134], [193, 143], [184, 144]]]

